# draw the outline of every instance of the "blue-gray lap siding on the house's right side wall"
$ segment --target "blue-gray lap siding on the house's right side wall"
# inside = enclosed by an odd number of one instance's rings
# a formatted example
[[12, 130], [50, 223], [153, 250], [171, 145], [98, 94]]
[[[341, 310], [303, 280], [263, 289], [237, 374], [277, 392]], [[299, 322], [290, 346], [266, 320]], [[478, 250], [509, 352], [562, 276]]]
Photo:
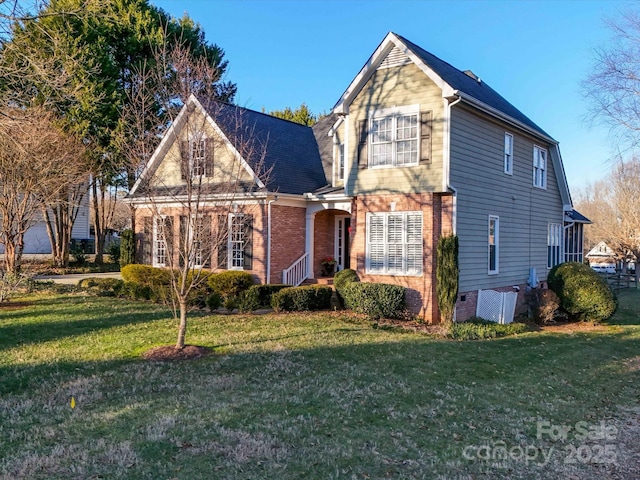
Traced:
[[[504, 134], [513, 135], [513, 175], [504, 173]], [[533, 186], [533, 146], [547, 149], [547, 188]], [[526, 283], [547, 275], [549, 223], [563, 221], [550, 145], [469, 110], [451, 117], [451, 184], [458, 190], [460, 291]], [[500, 217], [499, 273], [488, 274], [488, 217]]]

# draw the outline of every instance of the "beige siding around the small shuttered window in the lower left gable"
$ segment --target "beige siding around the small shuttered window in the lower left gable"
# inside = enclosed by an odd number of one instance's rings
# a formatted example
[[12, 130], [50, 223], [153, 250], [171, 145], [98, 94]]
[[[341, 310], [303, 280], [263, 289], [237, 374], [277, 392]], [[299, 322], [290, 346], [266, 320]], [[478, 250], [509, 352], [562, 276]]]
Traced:
[[188, 122], [176, 133], [167, 154], [161, 160], [152, 179], [154, 186], [175, 187], [185, 182], [180, 177], [180, 142], [187, 141], [189, 136], [207, 138], [214, 148], [214, 176], [204, 178], [206, 183], [252, 181], [251, 176], [235, 158], [233, 150], [206, 121], [198, 110], [194, 111]]

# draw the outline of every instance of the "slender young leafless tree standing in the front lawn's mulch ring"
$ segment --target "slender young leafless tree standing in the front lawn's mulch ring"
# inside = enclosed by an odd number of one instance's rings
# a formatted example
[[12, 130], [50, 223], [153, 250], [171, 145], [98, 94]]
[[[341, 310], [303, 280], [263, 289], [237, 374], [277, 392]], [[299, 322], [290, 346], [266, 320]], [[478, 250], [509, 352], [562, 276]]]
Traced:
[[[153, 252], [154, 263], [167, 267], [171, 274], [174, 313], [179, 318], [175, 347], [182, 349], [189, 297], [207, 279], [203, 268], [223, 264], [226, 268], [227, 262], [235, 261], [243, 266], [245, 257], [240, 250], [248, 244], [252, 212], [235, 200], [247, 188], [254, 188], [255, 179], [248, 178], [236, 155], [251, 159], [254, 171], [264, 179], [264, 146], [254, 141], [242, 109], [210, 100], [216, 97], [214, 80], [219, 74], [207, 61], [192, 56], [185, 45], [170, 47], [165, 42], [155, 52], [154, 68], [145, 67], [138, 78], [140, 83], [124, 112], [129, 118], [126, 124], [134, 129], [125, 135], [133, 139], [127, 157], [130, 171], [139, 171], [141, 159], [150, 158], [157, 145], [157, 133], [166, 132], [163, 142], [172, 147], [165, 152], [165, 159], [170, 159], [165, 165], [172, 162], [173, 168], [143, 171], [138, 191], [144, 192], [145, 207], [137, 217], [144, 223], [147, 259]], [[204, 99], [209, 117], [225, 126], [235, 152], [227, 149], [207, 117], [195, 108], [199, 103], [195, 94]], [[156, 102], [160, 109], [154, 106]], [[184, 107], [179, 114], [177, 107]], [[168, 125], [173, 128], [167, 130]], [[214, 152], [217, 159], [229, 161], [214, 168]], [[235, 243], [227, 252], [230, 239]]]

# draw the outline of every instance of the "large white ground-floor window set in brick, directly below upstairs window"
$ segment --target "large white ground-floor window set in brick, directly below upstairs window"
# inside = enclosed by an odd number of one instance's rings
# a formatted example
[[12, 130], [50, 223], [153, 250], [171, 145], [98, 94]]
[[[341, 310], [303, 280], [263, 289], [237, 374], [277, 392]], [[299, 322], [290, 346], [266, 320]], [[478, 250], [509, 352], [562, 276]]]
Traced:
[[422, 212], [367, 213], [367, 272], [422, 275]]

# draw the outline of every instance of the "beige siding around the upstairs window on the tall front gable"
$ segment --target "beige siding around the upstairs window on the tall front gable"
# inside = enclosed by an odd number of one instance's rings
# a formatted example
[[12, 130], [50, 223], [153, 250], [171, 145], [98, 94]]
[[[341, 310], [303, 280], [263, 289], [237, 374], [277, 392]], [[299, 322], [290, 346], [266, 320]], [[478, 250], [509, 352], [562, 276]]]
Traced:
[[[432, 112], [431, 162], [414, 167], [358, 170], [358, 125], [368, 112], [420, 105]], [[440, 192], [442, 190], [442, 91], [413, 63], [377, 70], [349, 106], [348, 190], [354, 195]]]

